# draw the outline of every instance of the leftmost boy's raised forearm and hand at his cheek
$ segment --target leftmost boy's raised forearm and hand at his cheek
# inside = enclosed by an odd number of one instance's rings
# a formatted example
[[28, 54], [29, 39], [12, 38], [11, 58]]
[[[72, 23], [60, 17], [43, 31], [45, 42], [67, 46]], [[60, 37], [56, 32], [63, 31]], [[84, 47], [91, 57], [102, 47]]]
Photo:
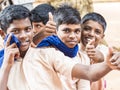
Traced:
[[4, 51], [4, 60], [0, 69], [0, 90], [7, 90], [9, 72], [14, 64], [14, 58], [19, 57], [19, 50], [15, 43], [10, 45], [11, 35], [8, 36]]

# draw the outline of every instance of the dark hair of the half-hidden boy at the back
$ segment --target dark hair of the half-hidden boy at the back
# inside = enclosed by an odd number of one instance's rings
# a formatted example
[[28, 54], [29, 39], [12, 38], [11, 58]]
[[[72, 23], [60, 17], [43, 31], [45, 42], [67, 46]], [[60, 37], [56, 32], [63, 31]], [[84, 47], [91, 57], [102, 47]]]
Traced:
[[43, 22], [46, 24], [49, 20], [48, 13], [54, 13], [55, 8], [49, 4], [40, 4], [31, 10], [31, 20], [32, 22]]

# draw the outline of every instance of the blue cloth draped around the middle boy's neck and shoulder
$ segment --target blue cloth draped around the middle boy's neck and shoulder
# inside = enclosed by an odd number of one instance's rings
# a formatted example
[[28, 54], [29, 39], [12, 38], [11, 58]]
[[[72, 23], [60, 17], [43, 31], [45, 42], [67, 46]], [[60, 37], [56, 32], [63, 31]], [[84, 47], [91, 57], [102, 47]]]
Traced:
[[69, 48], [55, 35], [46, 37], [37, 45], [37, 47], [47, 46], [54, 46], [63, 52], [64, 55], [69, 57], [75, 57], [78, 52], [78, 45], [76, 45], [74, 48]]

